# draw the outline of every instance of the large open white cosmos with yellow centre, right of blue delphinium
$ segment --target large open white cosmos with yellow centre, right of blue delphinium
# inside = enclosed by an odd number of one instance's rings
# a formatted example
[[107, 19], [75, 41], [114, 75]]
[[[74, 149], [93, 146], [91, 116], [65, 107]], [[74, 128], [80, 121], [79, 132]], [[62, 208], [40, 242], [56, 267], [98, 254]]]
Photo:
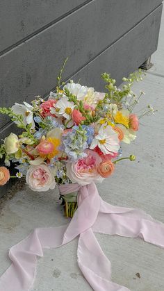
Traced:
[[113, 131], [112, 126], [104, 126], [101, 125], [99, 128], [99, 133], [95, 135], [95, 138], [92, 140], [92, 144], [90, 145], [90, 149], [95, 149], [95, 147], [99, 147], [104, 154], [117, 153], [120, 149], [119, 138], [115, 131]]

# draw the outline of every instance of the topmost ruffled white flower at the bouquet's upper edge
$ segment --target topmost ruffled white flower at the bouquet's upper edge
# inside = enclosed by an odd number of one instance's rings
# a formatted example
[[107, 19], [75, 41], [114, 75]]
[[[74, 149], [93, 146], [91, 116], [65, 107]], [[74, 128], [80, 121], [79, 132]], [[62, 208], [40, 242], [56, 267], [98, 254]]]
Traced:
[[85, 86], [81, 86], [79, 83], [67, 83], [63, 90], [69, 90], [74, 96], [77, 97], [78, 100], [83, 100], [86, 94], [88, 93], [88, 88]]

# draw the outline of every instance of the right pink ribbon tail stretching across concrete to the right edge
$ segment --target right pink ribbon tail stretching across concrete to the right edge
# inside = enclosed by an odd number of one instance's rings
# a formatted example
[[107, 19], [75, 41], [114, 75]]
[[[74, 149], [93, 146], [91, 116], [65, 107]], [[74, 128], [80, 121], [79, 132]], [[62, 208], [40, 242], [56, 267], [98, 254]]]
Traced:
[[102, 200], [93, 231], [130, 238], [139, 237], [145, 242], [164, 247], [164, 224], [142, 210], [110, 206]]

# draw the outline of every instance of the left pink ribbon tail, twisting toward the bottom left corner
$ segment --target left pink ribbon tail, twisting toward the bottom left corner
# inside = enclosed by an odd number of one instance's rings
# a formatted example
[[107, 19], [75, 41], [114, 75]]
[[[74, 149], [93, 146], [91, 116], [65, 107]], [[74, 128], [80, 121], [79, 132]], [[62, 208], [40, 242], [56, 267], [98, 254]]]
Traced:
[[12, 265], [0, 278], [1, 291], [28, 291], [35, 277], [37, 256], [43, 256], [42, 249], [60, 247], [66, 226], [35, 228], [27, 238], [15, 244], [9, 251]]

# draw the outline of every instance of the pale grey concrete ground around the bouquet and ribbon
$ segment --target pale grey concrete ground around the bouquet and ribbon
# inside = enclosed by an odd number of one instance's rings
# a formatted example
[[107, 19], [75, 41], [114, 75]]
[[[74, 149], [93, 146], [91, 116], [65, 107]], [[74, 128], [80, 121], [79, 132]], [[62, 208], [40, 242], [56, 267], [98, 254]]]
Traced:
[[[98, 185], [101, 197], [118, 206], [142, 208], [164, 223], [164, 15], [158, 51], [144, 81], [133, 86], [135, 92], [146, 95], [138, 107], [151, 104], [158, 113], [145, 117], [135, 142], [124, 147], [123, 156], [133, 153], [135, 163], [128, 160], [117, 165], [115, 174]], [[11, 198], [12, 197], [12, 198]], [[1, 201], [0, 213], [0, 275], [10, 265], [8, 249], [39, 226], [59, 226], [67, 223], [54, 192], [37, 193], [19, 190]], [[164, 290], [164, 250], [140, 239], [97, 234], [104, 253], [110, 259], [113, 281], [131, 291]], [[164, 238], [163, 238], [164, 239]], [[32, 291], [92, 290], [76, 263], [77, 240], [44, 251], [38, 258], [37, 274]], [[140, 278], [136, 274], [140, 274]]]

